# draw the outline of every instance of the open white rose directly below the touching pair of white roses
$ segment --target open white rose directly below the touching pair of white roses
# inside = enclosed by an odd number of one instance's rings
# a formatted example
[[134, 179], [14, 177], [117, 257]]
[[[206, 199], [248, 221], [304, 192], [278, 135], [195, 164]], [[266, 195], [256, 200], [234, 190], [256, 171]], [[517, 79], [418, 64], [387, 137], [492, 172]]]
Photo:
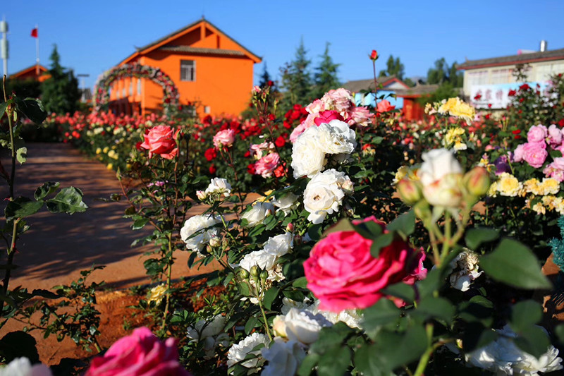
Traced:
[[337, 212], [345, 193], [341, 186], [350, 180], [343, 172], [329, 169], [315, 175], [304, 191], [304, 207], [309, 212], [307, 220], [314, 224], [324, 221], [327, 214]]

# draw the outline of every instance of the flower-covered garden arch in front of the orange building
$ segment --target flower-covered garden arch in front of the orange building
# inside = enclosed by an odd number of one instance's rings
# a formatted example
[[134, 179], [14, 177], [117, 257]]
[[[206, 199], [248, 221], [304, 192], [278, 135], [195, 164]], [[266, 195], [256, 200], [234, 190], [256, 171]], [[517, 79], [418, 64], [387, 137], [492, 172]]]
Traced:
[[111, 83], [126, 77], [147, 78], [160, 85], [163, 88], [164, 114], [171, 114], [178, 109], [180, 95], [173, 80], [159, 68], [133, 63], [111, 68], [97, 80], [94, 85], [94, 111], [99, 112], [108, 105]]

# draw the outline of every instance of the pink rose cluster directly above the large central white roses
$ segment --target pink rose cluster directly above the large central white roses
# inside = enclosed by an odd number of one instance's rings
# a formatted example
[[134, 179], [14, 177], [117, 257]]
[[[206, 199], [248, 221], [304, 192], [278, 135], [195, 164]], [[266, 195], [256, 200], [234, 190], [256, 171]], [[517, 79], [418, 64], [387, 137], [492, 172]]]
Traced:
[[357, 107], [353, 101], [350, 91], [341, 87], [337, 90], [329, 90], [321, 99], [315, 99], [305, 107], [308, 112], [305, 121], [294, 128], [290, 135], [290, 141], [295, 142], [298, 136], [312, 126], [319, 126], [321, 123], [329, 123], [331, 120], [341, 120], [349, 126], [355, 124], [367, 126], [371, 123], [370, 112], [367, 107]]

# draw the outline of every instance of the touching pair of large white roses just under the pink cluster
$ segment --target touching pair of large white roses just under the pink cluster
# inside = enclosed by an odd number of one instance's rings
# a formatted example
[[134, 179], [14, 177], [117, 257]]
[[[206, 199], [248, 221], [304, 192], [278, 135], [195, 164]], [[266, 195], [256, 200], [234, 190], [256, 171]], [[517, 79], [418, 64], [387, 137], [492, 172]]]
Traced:
[[311, 178], [324, 169], [326, 154], [350, 154], [356, 146], [355, 131], [344, 121], [331, 120], [320, 126], [309, 127], [292, 147], [294, 177]]

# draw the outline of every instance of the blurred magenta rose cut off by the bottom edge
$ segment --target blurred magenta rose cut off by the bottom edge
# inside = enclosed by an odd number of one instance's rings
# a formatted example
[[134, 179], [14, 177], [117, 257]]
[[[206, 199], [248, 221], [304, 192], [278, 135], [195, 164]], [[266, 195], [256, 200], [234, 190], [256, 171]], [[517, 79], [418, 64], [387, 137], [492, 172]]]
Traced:
[[137, 328], [94, 358], [85, 376], [190, 376], [178, 363], [176, 342], [163, 344], [148, 328]]

